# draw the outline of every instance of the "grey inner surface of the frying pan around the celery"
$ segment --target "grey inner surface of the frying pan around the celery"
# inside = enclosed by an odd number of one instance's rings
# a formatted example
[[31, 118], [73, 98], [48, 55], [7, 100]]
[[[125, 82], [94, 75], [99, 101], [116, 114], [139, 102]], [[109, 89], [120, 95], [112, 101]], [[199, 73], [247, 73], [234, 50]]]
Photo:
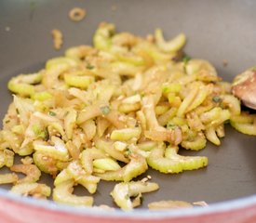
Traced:
[[[67, 15], [73, 7], [85, 7], [86, 20], [69, 20]], [[7, 91], [11, 76], [39, 70], [47, 59], [60, 56], [69, 46], [91, 44], [101, 21], [114, 22], [118, 31], [140, 35], [153, 33], [156, 27], [161, 27], [168, 38], [183, 32], [188, 37], [186, 53], [209, 59], [219, 75], [231, 81], [237, 73], [256, 65], [255, 11], [254, 0], [1, 0], [0, 118], [11, 101]], [[53, 28], [64, 35], [60, 51], [52, 46]], [[226, 67], [224, 59], [228, 61]], [[179, 175], [149, 170], [147, 175], [159, 183], [160, 190], [144, 196], [144, 207], [163, 199], [216, 203], [256, 193], [255, 137], [237, 133], [227, 125], [220, 147], [208, 143], [205, 150], [182, 153], [207, 155], [209, 166]], [[44, 176], [42, 181], [50, 180]], [[109, 196], [113, 186], [101, 182], [95, 203], [113, 205]]]

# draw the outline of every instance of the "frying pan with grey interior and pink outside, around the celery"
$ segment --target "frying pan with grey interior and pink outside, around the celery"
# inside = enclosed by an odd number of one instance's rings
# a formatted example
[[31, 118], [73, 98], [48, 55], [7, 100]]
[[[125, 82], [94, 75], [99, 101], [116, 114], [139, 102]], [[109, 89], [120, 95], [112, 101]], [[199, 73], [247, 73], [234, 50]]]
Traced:
[[[87, 9], [80, 22], [68, 19], [73, 7]], [[223, 80], [256, 63], [256, 2], [254, 0], [1, 0], [0, 85], [3, 119], [11, 95], [7, 81], [19, 73], [35, 72], [47, 59], [61, 56], [70, 46], [91, 44], [101, 21], [115, 23], [118, 31], [145, 36], [156, 27], [171, 38], [185, 33], [185, 52], [208, 59]], [[50, 31], [60, 29], [64, 45], [54, 50]], [[227, 66], [223, 66], [227, 60]], [[194, 154], [182, 151], [182, 154]], [[1, 222], [256, 222], [256, 138], [226, 126], [220, 147], [208, 143], [196, 152], [209, 157], [207, 168], [180, 175], [147, 175], [160, 190], [144, 195], [141, 208], [133, 212], [74, 208], [21, 198], [0, 189]], [[143, 177], [143, 176], [142, 176]], [[46, 176], [42, 182], [51, 183]], [[115, 206], [109, 196], [114, 184], [101, 182], [95, 204]], [[84, 190], [75, 190], [81, 194]], [[160, 200], [206, 201], [208, 207], [150, 212], [147, 203]]]

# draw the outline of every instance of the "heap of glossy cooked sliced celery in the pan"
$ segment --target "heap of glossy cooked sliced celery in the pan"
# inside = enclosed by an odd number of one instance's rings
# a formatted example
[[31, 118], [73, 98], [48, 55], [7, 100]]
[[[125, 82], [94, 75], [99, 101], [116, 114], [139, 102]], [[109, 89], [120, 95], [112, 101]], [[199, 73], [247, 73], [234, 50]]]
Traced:
[[[90, 206], [93, 196], [74, 195], [74, 186], [93, 194], [100, 180], [115, 180], [111, 195], [130, 210], [141, 193], [159, 188], [134, 181], [149, 167], [177, 174], [207, 166], [208, 157], [182, 156], [181, 147], [199, 151], [208, 140], [219, 146], [228, 122], [256, 134], [255, 118], [241, 113], [231, 84], [209, 61], [182, 53], [184, 34], [166, 41], [157, 29], [142, 38], [101, 23], [93, 44], [9, 81], [14, 95], [0, 132], [0, 165], [12, 173], [0, 182], [12, 183], [13, 192], [48, 197], [51, 189], [38, 182], [44, 172], [54, 178], [55, 202]], [[15, 154], [20, 164], [13, 164]]]

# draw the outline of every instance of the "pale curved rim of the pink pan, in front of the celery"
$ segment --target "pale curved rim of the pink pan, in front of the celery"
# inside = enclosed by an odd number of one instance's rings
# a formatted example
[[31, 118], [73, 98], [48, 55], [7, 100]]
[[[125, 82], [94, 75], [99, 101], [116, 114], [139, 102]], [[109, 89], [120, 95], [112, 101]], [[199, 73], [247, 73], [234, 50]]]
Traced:
[[0, 199], [6, 199], [9, 202], [32, 205], [37, 208], [44, 208], [45, 210], [52, 212], [59, 212], [71, 215], [79, 216], [91, 216], [91, 217], [125, 217], [134, 219], [152, 219], [152, 218], [166, 218], [166, 217], [193, 217], [193, 216], [205, 216], [216, 215], [230, 211], [241, 210], [250, 206], [256, 205], [256, 194], [252, 194], [246, 197], [237, 198], [234, 200], [228, 200], [219, 203], [211, 203], [205, 207], [195, 208], [181, 208], [173, 210], [149, 210], [149, 209], [134, 209], [130, 212], [125, 212], [120, 209], [115, 211], [109, 211], [105, 209], [99, 209], [94, 207], [74, 207], [70, 205], [54, 203], [48, 200], [38, 200], [31, 197], [22, 197], [20, 195], [11, 193], [7, 190], [0, 189]]

